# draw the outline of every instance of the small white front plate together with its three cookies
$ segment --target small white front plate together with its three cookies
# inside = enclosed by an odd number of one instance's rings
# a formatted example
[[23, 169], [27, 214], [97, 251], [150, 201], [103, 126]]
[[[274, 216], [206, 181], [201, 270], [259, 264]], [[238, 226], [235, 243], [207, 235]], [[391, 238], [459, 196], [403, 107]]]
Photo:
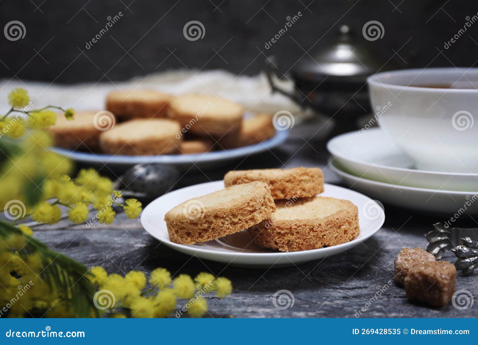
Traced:
[[170, 248], [251, 268], [342, 253], [384, 220], [374, 200], [324, 183], [319, 168], [304, 167], [231, 171], [223, 181], [164, 194], [141, 214], [144, 229]]

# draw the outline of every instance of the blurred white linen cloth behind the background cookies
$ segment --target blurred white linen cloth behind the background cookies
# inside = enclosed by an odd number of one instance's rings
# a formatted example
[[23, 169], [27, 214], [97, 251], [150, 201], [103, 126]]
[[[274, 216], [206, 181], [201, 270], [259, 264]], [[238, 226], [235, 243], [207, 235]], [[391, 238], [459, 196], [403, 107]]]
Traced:
[[[278, 86], [293, 90], [292, 83], [280, 81]], [[197, 92], [229, 98], [244, 106], [246, 111], [276, 113], [288, 110], [300, 115], [301, 108], [289, 98], [272, 94], [264, 74], [247, 76], [235, 75], [224, 70], [197, 71], [173, 70], [134, 77], [128, 81], [81, 83], [62, 85], [57, 83], [18, 80], [0, 80], [0, 109], [7, 111], [8, 93], [16, 87], [28, 90], [33, 108], [47, 105], [74, 108], [75, 110], [103, 110], [105, 98], [111, 90], [152, 88], [175, 94]]]

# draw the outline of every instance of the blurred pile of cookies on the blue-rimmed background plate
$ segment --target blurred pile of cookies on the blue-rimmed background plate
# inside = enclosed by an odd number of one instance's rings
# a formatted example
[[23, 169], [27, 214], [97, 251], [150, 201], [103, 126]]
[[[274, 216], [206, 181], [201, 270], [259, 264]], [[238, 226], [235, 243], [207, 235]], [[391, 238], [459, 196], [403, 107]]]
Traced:
[[106, 111], [79, 112], [51, 133], [59, 147], [124, 155], [233, 149], [275, 134], [269, 114], [247, 119], [243, 114], [241, 105], [221, 97], [119, 90], [108, 94]]

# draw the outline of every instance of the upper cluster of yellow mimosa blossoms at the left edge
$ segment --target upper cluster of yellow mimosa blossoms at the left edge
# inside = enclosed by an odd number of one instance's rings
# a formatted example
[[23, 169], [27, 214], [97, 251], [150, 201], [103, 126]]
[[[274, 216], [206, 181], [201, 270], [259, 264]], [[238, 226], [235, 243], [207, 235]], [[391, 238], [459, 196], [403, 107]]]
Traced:
[[[48, 150], [52, 140], [43, 129], [55, 124], [56, 113], [46, 108], [64, 111], [67, 119], [74, 119], [73, 109], [48, 106], [25, 110], [30, 97], [22, 88], [11, 91], [8, 99], [11, 110], [0, 120], [0, 130], [7, 138], [0, 137], [0, 150], [1, 144], [9, 139], [24, 137], [17, 142], [19, 149], [11, 153], [0, 167], [0, 190], [4, 191], [0, 195], [0, 202], [5, 212], [16, 211], [14, 216], [9, 217], [13, 224], [29, 216], [39, 223], [57, 223], [61, 219], [59, 205], [68, 208], [68, 219], [77, 224], [87, 220], [88, 205], [93, 205], [98, 211], [96, 218], [102, 224], [114, 221], [116, 212], [112, 205], [123, 207], [129, 218], [141, 214], [138, 200], [128, 199], [120, 204], [112, 198], [112, 195], [120, 197], [120, 193], [113, 191], [110, 179], [100, 176], [94, 169], [81, 170], [72, 179], [68, 175], [71, 171], [70, 162]], [[13, 111], [27, 114], [28, 120], [23, 121], [20, 116], [9, 118], [8, 115]]]

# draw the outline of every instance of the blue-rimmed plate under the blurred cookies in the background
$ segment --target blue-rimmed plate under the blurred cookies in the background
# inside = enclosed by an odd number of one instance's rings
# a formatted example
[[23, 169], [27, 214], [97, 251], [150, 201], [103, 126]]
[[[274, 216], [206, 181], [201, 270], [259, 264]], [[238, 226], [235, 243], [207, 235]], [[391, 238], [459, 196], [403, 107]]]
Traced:
[[258, 144], [239, 147], [237, 149], [210, 151], [206, 153], [194, 154], [164, 154], [156, 156], [126, 156], [111, 155], [103, 153], [92, 153], [82, 151], [71, 151], [58, 147], [52, 148], [52, 151], [69, 157], [76, 162], [87, 163], [93, 166], [107, 167], [129, 167], [135, 164], [164, 163], [173, 164], [174, 166], [188, 170], [190, 168], [207, 169], [221, 165], [230, 160], [247, 157], [250, 154], [256, 154], [282, 144], [288, 137], [288, 130], [276, 130], [275, 135], [268, 140], [264, 140]]

